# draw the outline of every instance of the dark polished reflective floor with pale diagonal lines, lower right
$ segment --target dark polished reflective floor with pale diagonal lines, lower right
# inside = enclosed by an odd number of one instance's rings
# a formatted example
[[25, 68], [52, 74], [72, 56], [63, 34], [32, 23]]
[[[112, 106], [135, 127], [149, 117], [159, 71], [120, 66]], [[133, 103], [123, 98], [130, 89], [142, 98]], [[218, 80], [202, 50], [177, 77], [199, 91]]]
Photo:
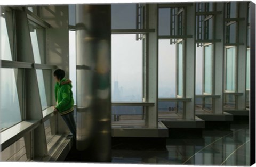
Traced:
[[[115, 142], [111, 163], [250, 166], [249, 123], [203, 130], [202, 137], [193, 139], [143, 140]], [[67, 157], [66, 161], [76, 160]]]

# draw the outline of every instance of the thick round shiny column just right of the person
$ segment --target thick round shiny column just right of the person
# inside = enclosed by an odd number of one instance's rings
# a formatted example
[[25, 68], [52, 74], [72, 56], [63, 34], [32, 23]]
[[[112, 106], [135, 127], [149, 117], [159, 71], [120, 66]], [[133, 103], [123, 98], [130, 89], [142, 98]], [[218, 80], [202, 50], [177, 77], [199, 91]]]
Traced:
[[76, 53], [77, 149], [85, 160], [110, 161], [110, 5], [76, 5]]

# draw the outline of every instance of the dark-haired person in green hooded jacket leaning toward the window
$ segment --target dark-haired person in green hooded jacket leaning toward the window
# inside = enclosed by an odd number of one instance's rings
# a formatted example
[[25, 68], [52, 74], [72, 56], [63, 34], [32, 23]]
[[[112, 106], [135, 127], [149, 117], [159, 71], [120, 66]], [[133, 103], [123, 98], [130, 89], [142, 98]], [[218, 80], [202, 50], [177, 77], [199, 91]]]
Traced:
[[57, 69], [53, 73], [55, 84], [55, 99], [57, 105], [54, 112], [59, 112], [76, 140], [76, 123], [74, 119], [74, 99], [71, 81], [65, 78], [65, 71]]

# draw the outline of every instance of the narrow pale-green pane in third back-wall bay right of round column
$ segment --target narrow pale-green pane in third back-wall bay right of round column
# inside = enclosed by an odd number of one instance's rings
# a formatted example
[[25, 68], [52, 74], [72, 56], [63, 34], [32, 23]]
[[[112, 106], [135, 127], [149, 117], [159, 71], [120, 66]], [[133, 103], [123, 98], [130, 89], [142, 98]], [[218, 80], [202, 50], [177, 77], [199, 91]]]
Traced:
[[212, 44], [204, 47], [204, 93], [212, 94]]

